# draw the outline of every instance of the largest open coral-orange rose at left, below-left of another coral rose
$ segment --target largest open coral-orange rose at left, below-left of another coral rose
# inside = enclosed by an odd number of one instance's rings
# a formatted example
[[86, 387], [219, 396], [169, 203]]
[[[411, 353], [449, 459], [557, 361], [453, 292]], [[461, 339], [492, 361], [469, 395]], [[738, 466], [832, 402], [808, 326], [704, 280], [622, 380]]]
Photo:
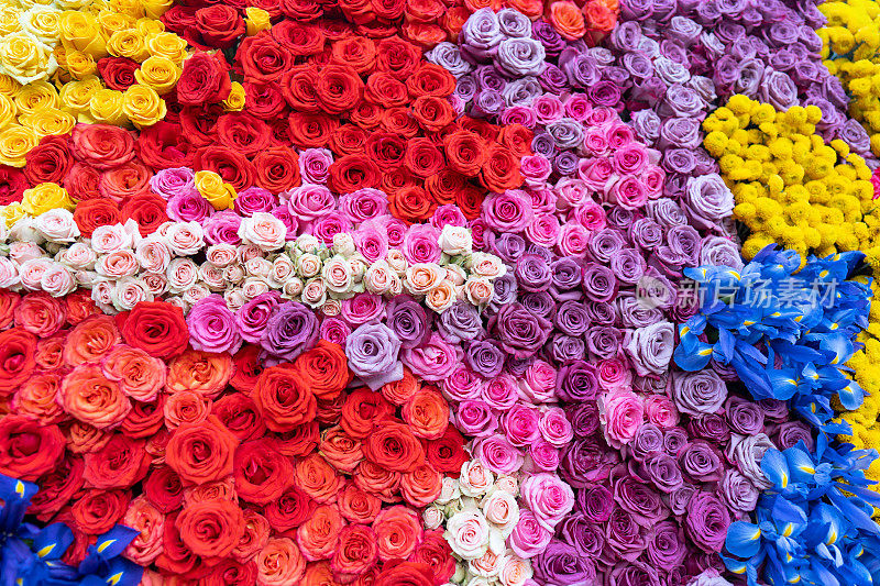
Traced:
[[94, 364], [77, 366], [65, 376], [58, 399], [65, 411], [100, 430], [119, 425], [131, 411], [119, 385]]

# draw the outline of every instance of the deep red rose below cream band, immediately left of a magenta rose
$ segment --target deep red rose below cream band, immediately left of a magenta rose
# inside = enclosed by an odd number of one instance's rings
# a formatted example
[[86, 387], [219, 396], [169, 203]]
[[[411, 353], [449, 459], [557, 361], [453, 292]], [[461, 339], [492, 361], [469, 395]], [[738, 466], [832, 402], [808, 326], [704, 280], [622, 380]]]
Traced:
[[141, 301], [131, 311], [120, 313], [120, 332], [130, 346], [156, 358], [169, 360], [183, 354], [189, 342], [184, 310], [162, 301]]

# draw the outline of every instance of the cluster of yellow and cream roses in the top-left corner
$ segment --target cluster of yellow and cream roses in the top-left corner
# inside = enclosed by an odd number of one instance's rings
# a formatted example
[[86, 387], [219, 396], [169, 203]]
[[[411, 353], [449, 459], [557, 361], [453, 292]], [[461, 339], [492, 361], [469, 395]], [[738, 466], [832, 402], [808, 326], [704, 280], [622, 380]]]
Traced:
[[[186, 41], [158, 19], [172, 0], [0, 0], [0, 164], [24, 155], [77, 122], [155, 124], [174, 89]], [[125, 91], [98, 77], [102, 57], [140, 64]]]

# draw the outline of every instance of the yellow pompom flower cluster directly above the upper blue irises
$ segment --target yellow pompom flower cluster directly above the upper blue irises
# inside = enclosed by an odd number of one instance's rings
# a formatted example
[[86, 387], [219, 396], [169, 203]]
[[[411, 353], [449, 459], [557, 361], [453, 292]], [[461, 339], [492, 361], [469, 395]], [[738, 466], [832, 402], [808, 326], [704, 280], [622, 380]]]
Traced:
[[872, 250], [880, 264], [871, 170], [843, 141], [825, 144], [815, 133], [822, 111], [733, 96], [704, 122], [704, 145], [718, 159], [736, 197], [734, 218], [751, 235], [743, 256], [771, 243], [820, 256]]

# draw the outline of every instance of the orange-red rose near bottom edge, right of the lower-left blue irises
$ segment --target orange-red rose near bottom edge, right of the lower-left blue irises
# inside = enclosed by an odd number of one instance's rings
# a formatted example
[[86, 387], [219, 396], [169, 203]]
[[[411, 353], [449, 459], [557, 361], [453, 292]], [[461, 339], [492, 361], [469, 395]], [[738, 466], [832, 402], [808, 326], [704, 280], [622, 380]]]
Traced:
[[175, 524], [196, 555], [226, 557], [244, 533], [244, 515], [230, 500], [205, 500], [185, 507]]

